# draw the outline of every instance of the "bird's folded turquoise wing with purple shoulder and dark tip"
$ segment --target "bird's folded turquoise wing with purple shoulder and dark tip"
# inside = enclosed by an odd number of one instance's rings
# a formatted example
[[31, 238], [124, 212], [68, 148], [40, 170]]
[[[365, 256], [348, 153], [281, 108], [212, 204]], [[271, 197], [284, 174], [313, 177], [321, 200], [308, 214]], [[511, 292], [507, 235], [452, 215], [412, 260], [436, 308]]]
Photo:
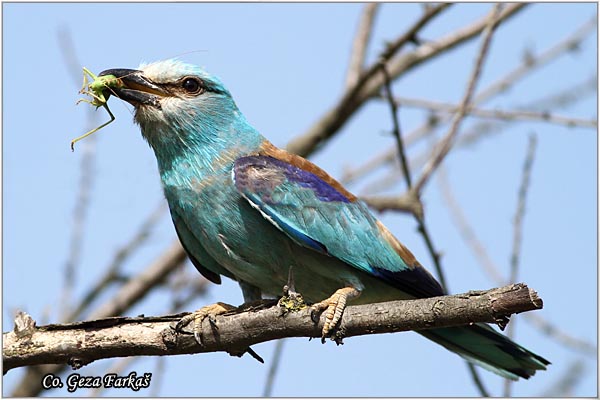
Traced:
[[242, 157], [234, 164], [235, 186], [264, 218], [297, 244], [338, 258], [410, 296], [443, 293], [364, 203], [322, 170], [313, 173], [310, 162], [297, 158], [301, 162], [294, 165], [272, 156]]

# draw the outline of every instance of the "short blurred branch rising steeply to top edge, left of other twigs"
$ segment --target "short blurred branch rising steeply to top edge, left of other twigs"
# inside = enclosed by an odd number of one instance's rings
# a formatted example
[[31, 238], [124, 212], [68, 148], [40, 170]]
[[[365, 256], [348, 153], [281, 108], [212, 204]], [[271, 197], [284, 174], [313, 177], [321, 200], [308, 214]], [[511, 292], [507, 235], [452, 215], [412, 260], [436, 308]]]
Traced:
[[350, 53], [350, 64], [348, 66], [348, 73], [346, 74], [347, 88], [356, 85], [358, 78], [363, 72], [367, 48], [371, 39], [371, 33], [373, 32], [373, 22], [375, 21], [375, 15], [379, 6], [379, 3], [367, 3], [364, 6]]

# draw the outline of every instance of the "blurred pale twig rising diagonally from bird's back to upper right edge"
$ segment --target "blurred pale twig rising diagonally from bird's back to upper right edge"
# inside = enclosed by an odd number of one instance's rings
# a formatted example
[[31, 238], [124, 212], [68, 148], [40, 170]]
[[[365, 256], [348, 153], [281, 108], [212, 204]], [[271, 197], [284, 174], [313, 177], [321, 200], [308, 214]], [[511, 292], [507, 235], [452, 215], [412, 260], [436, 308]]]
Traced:
[[[503, 93], [516, 82], [518, 82], [520, 79], [526, 77], [528, 74], [539, 70], [539, 68], [541, 68], [542, 66], [547, 65], [549, 62], [577, 48], [587, 36], [591, 35], [596, 31], [596, 25], [597, 20], [594, 16], [586, 23], [584, 23], [581, 27], [576, 29], [575, 32], [567, 36], [564, 40], [553, 45], [546, 51], [540, 53], [537, 56], [530, 55], [529, 57], [527, 57], [527, 59], [524, 59], [522, 63], [519, 64], [515, 69], [511, 70], [501, 78], [497, 79], [487, 88], [479, 92], [474, 97], [472, 104], [482, 104], [487, 100], [499, 95], [500, 93]], [[440, 116], [436, 117], [436, 119], [433, 121], [427, 120], [422, 126], [411, 131], [406, 136], [405, 144], [408, 146], [415, 143], [418, 139], [427, 136], [433, 128], [439, 126], [441, 123], [449, 121], [451, 118], [452, 116]], [[353, 170], [347, 170], [344, 173], [341, 180], [343, 183], [348, 184], [358, 179], [359, 177], [362, 177], [370, 173], [371, 171], [379, 168], [381, 165], [393, 162], [395, 159], [396, 150], [387, 150], [373, 157], [371, 160], [367, 161], [363, 166], [360, 166]]]

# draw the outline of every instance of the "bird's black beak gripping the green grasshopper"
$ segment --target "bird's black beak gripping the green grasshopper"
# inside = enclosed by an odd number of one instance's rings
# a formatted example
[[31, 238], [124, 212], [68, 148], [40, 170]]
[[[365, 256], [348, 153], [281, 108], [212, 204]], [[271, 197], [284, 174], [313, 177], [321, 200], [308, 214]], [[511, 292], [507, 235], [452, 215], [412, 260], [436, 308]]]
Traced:
[[169, 94], [160, 85], [146, 78], [142, 71], [135, 69], [107, 69], [98, 74], [98, 76], [106, 75], [113, 75], [122, 83], [122, 86], [111, 88], [113, 94], [135, 107], [148, 105], [160, 108], [160, 99]]

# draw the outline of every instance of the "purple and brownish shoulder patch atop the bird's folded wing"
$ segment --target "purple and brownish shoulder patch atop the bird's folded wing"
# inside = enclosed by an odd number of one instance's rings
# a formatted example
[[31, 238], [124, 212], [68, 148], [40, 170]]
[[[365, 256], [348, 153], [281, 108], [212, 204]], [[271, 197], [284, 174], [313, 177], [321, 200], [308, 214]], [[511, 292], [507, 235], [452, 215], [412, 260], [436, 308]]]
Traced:
[[[253, 168], [250, 169], [249, 167]], [[250, 172], [251, 170], [252, 172]], [[257, 186], [260, 186], [262, 189], [266, 189], [266, 186], [270, 186], [272, 190], [275, 186], [283, 183], [283, 178], [285, 178], [304, 188], [311, 189], [319, 200], [326, 202], [351, 202], [346, 196], [312, 172], [305, 171], [270, 156], [242, 157], [235, 162], [234, 174], [238, 188], [240, 186], [244, 186], [245, 188], [253, 186], [255, 189], [258, 189]]]

